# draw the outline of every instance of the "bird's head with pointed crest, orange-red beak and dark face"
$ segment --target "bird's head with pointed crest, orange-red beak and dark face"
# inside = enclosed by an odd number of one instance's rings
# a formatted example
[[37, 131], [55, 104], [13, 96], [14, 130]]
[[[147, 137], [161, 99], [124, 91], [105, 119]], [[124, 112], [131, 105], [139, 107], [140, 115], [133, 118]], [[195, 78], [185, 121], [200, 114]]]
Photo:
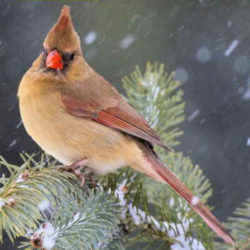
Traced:
[[81, 42], [73, 26], [68, 6], [63, 6], [56, 24], [44, 40], [43, 47], [43, 53], [34, 63], [35, 67], [66, 78], [74, 78], [83, 73], [85, 60]]

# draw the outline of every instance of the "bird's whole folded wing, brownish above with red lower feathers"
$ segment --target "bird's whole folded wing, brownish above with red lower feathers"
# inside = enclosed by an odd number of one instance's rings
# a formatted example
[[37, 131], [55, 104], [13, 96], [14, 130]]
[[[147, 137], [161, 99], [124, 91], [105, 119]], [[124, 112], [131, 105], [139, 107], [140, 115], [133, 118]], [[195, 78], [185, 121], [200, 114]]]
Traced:
[[143, 117], [102, 77], [62, 91], [62, 103], [71, 115], [92, 119], [169, 150]]

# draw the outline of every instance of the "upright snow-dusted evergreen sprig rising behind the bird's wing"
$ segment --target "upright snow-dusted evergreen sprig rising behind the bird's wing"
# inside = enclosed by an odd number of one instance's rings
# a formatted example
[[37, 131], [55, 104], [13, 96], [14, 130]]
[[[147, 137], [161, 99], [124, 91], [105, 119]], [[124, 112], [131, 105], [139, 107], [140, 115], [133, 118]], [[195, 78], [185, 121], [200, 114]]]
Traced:
[[173, 74], [164, 71], [164, 65], [150, 63], [143, 74], [139, 67], [122, 80], [127, 97], [154, 128], [167, 145], [178, 145], [177, 137], [182, 131], [177, 128], [184, 121], [183, 91]]

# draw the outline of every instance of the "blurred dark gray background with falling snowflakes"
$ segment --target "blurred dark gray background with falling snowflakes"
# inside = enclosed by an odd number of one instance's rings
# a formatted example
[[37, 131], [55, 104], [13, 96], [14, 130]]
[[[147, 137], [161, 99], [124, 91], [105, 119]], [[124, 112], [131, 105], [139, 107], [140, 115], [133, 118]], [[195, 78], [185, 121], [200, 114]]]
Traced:
[[[88, 62], [120, 91], [121, 78], [148, 60], [176, 70], [187, 103], [178, 150], [211, 180], [221, 220], [250, 197], [248, 2], [67, 1]], [[0, 0], [0, 154], [12, 163], [21, 151], [39, 151], [21, 124], [16, 92], [64, 3]]]

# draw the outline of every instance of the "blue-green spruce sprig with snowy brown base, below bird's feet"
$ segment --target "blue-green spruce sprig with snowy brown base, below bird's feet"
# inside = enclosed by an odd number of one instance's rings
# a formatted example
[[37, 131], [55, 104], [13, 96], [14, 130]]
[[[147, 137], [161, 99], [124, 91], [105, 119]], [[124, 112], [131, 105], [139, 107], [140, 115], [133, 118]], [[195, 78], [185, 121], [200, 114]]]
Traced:
[[74, 193], [57, 198], [50, 218], [29, 233], [22, 247], [50, 249], [104, 249], [118, 233], [119, 206], [101, 188], [88, 195], [75, 187]]

